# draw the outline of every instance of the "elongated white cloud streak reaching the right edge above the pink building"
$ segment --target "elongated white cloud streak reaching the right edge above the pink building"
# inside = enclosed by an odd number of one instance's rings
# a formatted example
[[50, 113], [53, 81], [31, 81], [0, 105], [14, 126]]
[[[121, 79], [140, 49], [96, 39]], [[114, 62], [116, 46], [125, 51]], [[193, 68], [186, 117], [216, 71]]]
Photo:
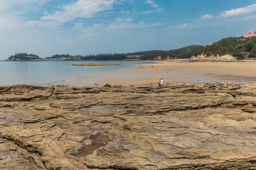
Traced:
[[224, 11], [223, 14], [221, 14], [219, 16], [220, 17], [230, 17], [230, 16], [234, 16], [234, 15], [250, 13], [254, 10], [256, 10], [256, 3], [254, 3], [253, 5], [245, 6], [244, 8], [236, 8], [236, 9], [231, 9], [230, 11]]

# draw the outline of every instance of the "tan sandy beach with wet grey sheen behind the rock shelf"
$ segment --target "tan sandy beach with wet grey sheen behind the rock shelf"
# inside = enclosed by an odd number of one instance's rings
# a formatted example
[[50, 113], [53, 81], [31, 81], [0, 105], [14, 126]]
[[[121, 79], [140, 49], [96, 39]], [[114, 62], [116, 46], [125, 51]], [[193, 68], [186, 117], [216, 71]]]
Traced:
[[[160, 78], [164, 83], [214, 83], [232, 82], [240, 84], [256, 83], [256, 61], [242, 60], [241, 62], [194, 62], [182, 63], [183, 60], [165, 60], [157, 64], [139, 65], [142, 68], [132, 71], [119, 72], [109, 77], [99, 79], [88, 86], [111, 85], [145, 86], [155, 85]], [[180, 63], [180, 65], [178, 65]], [[152, 65], [154, 67], [152, 67]], [[83, 83], [82, 83], [83, 84]], [[79, 84], [79, 86], [82, 86]]]

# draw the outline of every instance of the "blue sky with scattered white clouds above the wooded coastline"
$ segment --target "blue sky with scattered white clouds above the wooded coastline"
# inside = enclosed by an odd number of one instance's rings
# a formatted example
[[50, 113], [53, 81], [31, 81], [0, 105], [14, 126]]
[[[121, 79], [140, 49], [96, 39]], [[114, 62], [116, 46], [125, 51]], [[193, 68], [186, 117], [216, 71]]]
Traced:
[[249, 30], [255, 0], [0, 0], [0, 60], [173, 50]]

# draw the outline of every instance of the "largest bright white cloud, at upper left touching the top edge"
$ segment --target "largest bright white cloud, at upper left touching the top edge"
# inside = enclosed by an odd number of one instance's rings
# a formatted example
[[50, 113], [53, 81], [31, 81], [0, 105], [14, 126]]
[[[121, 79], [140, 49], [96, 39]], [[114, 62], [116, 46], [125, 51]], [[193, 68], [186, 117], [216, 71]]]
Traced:
[[114, 3], [123, 0], [78, 0], [68, 5], [60, 6], [63, 11], [41, 17], [42, 20], [66, 23], [76, 18], [92, 18], [96, 13], [113, 9]]

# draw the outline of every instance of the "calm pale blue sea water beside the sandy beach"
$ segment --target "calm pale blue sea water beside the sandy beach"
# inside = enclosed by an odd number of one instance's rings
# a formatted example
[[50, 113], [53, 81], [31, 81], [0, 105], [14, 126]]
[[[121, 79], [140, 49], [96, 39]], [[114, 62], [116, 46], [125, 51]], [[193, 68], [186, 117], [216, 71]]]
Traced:
[[[72, 66], [72, 64], [101, 63], [120, 64], [117, 66]], [[128, 71], [139, 68], [134, 64], [148, 62], [97, 62], [97, 61], [42, 61], [4, 62], [0, 61], [0, 86], [30, 84], [45, 86], [76, 78], [101, 77], [106, 73]]]

